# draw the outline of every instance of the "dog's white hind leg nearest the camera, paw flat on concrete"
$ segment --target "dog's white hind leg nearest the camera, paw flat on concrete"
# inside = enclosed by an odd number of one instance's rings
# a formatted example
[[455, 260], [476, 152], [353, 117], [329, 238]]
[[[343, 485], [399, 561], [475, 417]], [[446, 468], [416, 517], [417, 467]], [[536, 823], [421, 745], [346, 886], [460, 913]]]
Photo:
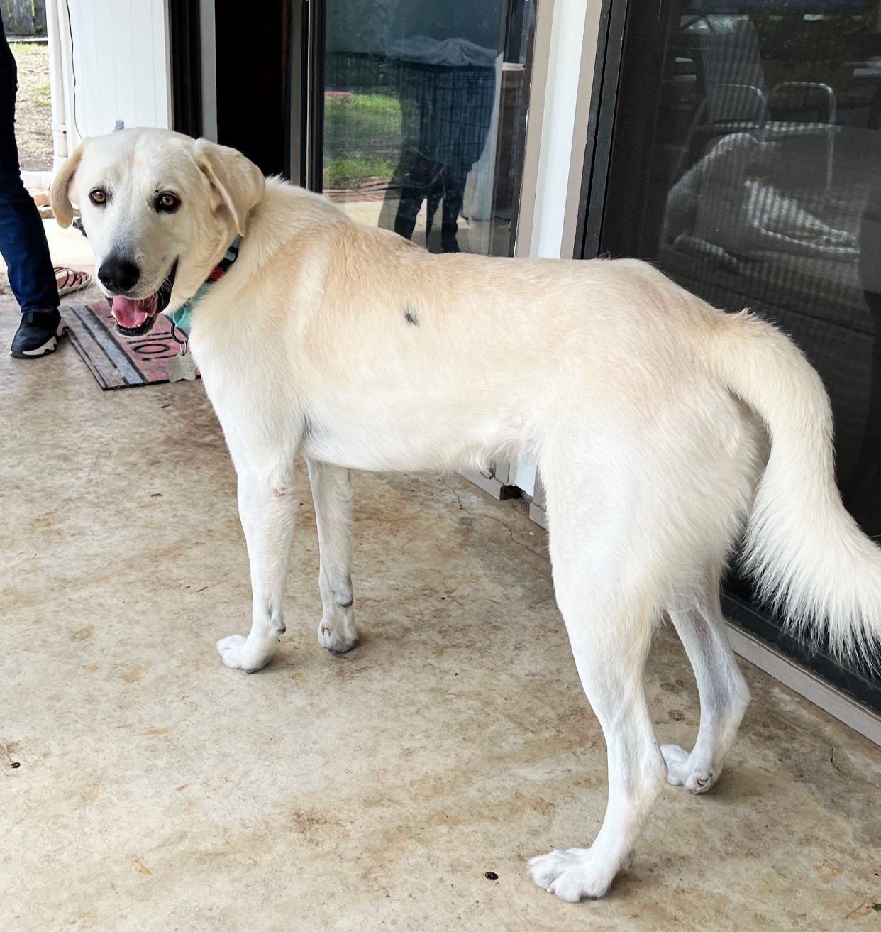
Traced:
[[645, 700], [644, 665], [656, 611], [650, 587], [638, 583], [639, 570], [631, 570], [641, 559], [638, 541], [614, 514], [615, 496], [603, 503], [595, 488], [586, 507], [570, 488], [561, 501], [547, 479], [557, 602], [608, 748], [608, 802], [593, 844], [530, 861], [536, 884], [574, 902], [602, 897], [629, 862], [667, 767]]

